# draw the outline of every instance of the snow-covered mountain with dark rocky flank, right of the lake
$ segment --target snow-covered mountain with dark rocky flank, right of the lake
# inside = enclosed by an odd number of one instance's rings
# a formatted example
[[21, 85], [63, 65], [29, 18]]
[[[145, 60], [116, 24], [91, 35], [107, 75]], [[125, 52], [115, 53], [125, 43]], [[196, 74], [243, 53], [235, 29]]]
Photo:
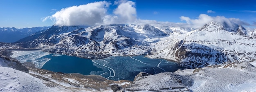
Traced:
[[[241, 25], [236, 30], [211, 22], [185, 36], [178, 35], [176, 44], [154, 52], [148, 57], [165, 58], [180, 62], [184, 67], [252, 61], [256, 57], [256, 39], [249, 37]], [[179, 40], [180, 39], [180, 40]], [[158, 43], [164, 43], [159, 41]]]

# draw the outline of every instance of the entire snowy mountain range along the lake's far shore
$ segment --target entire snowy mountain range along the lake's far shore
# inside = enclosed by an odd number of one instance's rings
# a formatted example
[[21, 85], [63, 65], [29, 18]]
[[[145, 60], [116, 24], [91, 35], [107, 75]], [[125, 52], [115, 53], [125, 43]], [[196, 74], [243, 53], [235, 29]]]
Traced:
[[210, 22], [199, 29], [159, 25], [52, 26], [17, 41], [20, 47], [78, 56], [147, 55], [183, 67], [228, 65], [256, 58], [256, 32]]

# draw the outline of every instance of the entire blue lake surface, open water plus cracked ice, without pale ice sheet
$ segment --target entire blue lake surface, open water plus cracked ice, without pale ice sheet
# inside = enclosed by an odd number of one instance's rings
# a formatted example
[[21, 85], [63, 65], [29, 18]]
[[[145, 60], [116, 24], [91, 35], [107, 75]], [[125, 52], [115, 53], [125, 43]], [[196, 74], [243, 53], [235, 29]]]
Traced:
[[50, 61], [43, 65], [42, 69], [45, 70], [63, 73], [80, 73], [84, 75], [96, 74], [110, 80], [133, 81], [139, 72], [157, 74], [160, 72], [175, 72], [178, 69], [182, 69], [175, 62], [164, 59], [150, 59], [144, 56], [110, 56], [98, 60], [66, 55], [47, 55], [42, 58], [51, 58]]

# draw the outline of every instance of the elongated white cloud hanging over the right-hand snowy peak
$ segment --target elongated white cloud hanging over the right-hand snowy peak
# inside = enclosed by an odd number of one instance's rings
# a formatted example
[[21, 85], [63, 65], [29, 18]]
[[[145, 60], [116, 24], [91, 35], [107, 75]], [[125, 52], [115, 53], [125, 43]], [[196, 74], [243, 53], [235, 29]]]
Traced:
[[225, 18], [224, 16], [208, 16], [207, 14], [200, 14], [198, 19], [191, 19], [189, 17], [181, 16], [180, 19], [182, 21], [186, 21], [187, 25], [186, 27], [193, 27], [193, 28], [199, 28], [202, 27], [204, 24], [207, 24], [211, 21], [216, 21], [220, 23], [225, 23], [225, 25], [229, 27], [235, 27], [237, 24], [240, 25], [250, 25], [247, 22], [243, 22], [242, 20], [238, 18]]

